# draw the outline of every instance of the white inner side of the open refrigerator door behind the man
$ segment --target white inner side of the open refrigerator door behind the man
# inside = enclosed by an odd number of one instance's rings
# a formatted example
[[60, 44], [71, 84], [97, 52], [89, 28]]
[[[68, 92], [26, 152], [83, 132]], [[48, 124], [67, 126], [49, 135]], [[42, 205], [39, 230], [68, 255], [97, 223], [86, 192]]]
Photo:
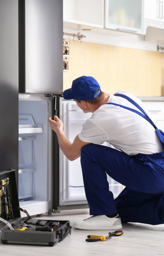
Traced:
[[[73, 142], [75, 136], [80, 133], [86, 119], [92, 113], [84, 113], [73, 100], [60, 99], [60, 119], [64, 124], [64, 132], [67, 138]], [[105, 146], [111, 146], [103, 143]], [[114, 198], [123, 190], [123, 185], [107, 175], [109, 189]], [[80, 157], [69, 161], [62, 151], [59, 151], [59, 206], [71, 204], [87, 204]]]

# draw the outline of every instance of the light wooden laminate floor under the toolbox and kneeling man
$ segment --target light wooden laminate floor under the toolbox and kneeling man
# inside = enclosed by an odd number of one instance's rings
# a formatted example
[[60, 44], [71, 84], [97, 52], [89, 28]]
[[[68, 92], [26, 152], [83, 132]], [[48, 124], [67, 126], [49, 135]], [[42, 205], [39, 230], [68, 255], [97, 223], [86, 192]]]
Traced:
[[[89, 210], [69, 210], [48, 216], [44, 214], [38, 219], [70, 220], [70, 224], [89, 217]], [[146, 225], [139, 223], [123, 224], [124, 234], [103, 242], [88, 243], [87, 235], [105, 235], [110, 230], [78, 230], [72, 228], [61, 243], [53, 247], [30, 245], [3, 245], [0, 242], [0, 255], [3, 256], [158, 256], [164, 255], [164, 224]], [[1, 238], [1, 233], [0, 233]]]

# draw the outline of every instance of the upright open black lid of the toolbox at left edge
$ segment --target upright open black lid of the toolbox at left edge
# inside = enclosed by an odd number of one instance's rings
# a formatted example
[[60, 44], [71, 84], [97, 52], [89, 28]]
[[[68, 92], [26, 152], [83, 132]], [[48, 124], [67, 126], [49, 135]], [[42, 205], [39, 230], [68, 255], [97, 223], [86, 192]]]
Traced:
[[[19, 211], [18, 187], [16, 182], [15, 170], [10, 169], [4, 172], [0, 172], [0, 189], [1, 189], [1, 181], [5, 178], [9, 178], [8, 186], [9, 186], [10, 196], [11, 196], [11, 206], [13, 209], [13, 217], [14, 219], [17, 219], [21, 217], [21, 213]], [[2, 200], [2, 198], [0, 198], [0, 200]], [[2, 201], [1, 201], [1, 207], [2, 207]], [[12, 219], [7, 221], [10, 223]], [[6, 224], [0, 221], [0, 229], [2, 229], [4, 225]]]

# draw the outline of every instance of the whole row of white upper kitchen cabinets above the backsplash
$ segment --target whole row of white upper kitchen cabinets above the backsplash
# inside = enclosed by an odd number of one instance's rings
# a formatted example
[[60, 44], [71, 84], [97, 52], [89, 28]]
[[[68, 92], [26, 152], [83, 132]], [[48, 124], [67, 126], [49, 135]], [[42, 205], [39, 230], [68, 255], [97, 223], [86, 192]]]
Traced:
[[154, 42], [164, 37], [164, 0], [63, 0], [63, 18], [64, 28], [94, 28], [112, 36], [144, 34]]

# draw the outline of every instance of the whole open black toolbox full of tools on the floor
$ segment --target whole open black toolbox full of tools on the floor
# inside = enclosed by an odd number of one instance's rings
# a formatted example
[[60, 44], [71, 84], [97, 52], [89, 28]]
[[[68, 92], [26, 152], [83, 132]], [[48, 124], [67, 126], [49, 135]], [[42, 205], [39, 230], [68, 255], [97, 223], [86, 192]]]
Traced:
[[[20, 210], [27, 217], [21, 218]], [[32, 219], [19, 207], [15, 170], [0, 172], [0, 229], [3, 244], [53, 246], [71, 234], [69, 220]]]

